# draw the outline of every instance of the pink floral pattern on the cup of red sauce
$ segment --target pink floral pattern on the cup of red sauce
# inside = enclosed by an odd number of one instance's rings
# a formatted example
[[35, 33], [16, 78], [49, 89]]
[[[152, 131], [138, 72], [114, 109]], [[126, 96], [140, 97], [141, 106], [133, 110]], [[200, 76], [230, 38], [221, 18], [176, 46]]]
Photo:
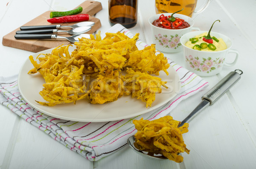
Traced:
[[181, 46], [180, 37], [178, 34], [175, 34], [175, 36], [170, 35], [170, 37], [168, 37], [166, 34], [158, 34], [155, 35], [155, 40], [157, 40], [160, 46], [163, 46], [164, 48], [177, 49], [179, 46]]

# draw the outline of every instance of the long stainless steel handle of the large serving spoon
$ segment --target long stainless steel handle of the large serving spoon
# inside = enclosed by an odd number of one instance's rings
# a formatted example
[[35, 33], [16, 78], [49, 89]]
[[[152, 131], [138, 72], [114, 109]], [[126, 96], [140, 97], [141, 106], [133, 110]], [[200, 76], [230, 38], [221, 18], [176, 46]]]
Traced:
[[213, 86], [212, 89], [202, 96], [201, 103], [199, 103], [199, 105], [180, 123], [179, 126], [183, 126], [184, 123], [189, 123], [207, 106], [213, 105], [241, 78], [241, 74], [243, 74], [243, 72], [240, 69], [236, 69], [235, 71], [227, 74], [227, 76], [225, 76], [221, 81]]

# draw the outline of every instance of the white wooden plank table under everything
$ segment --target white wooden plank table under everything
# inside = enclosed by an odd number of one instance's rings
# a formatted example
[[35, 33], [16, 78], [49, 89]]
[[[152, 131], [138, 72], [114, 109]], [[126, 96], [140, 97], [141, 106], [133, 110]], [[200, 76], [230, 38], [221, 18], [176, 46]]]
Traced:
[[[103, 9], [96, 14], [105, 32], [108, 23], [108, 0], [98, 0]], [[198, 0], [200, 5], [202, 0]], [[71, 3], [72, 2], [72, 3]], [[83, 0], [1, 0], [0, 40], [12, 30], [45, 11], [67, 11]], [[7, 4], [8, 3], [8, 4]], [[199, 6], [198, 5], [198, 6]], [[149, 160], [133, 152], [128, 146], [96, 162], [90, 162], [76, 152], [50, 138], [44, 132], [0, 106], [0, 168], [1, 169], [252, 169], [256, 166], [256, 1], [212, 0], [208, 8], [194, 17], [195, 27], [208, 31], [213, 21], [214, 32], [225, 34], [233, 40], [233, 49], [240, 53], [236, 66], [224, 67], [220, 74], [204, 77], [209, 82], [205, 91], [183, 100], [170, 115], [183, 120], [198, 103], [201, 96], [221, 78], [235, 69], [244, 74], [217, 103], [209, 106], [190, 123], [184, 140], [190, 154], [183, 153], [183, 163], [169, 160]], [[130, 30], [140, 33], [146, 43], [152, 43], [148, 18], [155, 14], [154, 0], [139, 0], [138, 23]], [[18, 74], [32, 52], [0, 45], [0, 76]], [[166, 54], [181, 66], [182, 52]]]

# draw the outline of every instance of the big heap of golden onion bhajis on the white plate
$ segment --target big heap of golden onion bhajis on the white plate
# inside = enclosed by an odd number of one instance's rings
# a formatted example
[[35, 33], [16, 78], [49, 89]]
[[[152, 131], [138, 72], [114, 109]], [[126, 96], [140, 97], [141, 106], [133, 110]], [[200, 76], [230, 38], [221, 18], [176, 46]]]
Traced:
[[138, 36], [129, 38], [117, 32], [106, 33], [102, 39], [98, 32], [75, 42], [71, 53], [71, 45], [67, 45], [38, 55], [39, 63], [29, 56], [34, 68], [28, 74], [39, 72], [46, 82], [39, 94], [47, 102], [37, 102], [55, 106], [86, 98], [92, 104], [103, 104], [132, 95], [151, 106], [161, 86], [167, 88], [166, 82], [151, 74], [159, 75], [163, 70], [168, 75], [170, 65], [154, 44], [138, 50]]

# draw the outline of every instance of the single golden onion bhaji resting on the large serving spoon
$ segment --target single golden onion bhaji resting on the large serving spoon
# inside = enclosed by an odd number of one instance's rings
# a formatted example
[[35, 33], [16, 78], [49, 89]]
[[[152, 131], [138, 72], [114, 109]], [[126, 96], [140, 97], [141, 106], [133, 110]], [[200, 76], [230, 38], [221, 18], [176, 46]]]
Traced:
[[171, 116], [160, 117], [156, 120], [133, 120], [137, 133], [134, 135], [134, 146], [148, 152], [148, 155], [161, 154], [177, 163], [183, 161], [178, 155], [181, 152], [189, 154], [182, 134], [188, 132], [188, 123], [179, 127], [180, 121]]

